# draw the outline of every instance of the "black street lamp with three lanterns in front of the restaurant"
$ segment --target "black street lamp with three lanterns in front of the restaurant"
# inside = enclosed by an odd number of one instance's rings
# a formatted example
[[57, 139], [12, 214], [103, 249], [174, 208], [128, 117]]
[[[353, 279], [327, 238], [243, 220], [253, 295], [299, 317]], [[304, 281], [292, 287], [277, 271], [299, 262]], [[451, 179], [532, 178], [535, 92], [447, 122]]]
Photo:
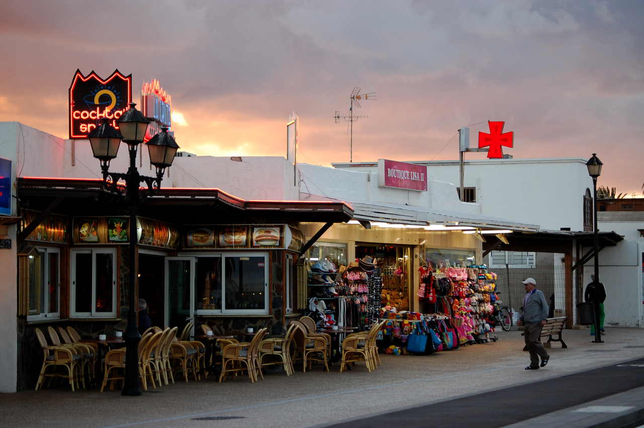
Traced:
[[[128, 327], [125, 331], [126, 366], [122, 395], [141, 395], [138, 386], [138, 342], [141, 340], [141, 335], [138, 332], [137, 301], [135, 299], [138, 206], [147, 195], [151, 196], [155, 190], [161, 187], [164, 171], [172, 165], [176, 150], [179, 148], [175, 139], [167, 133], [167, 128], [164, 128], [148, 142], [150, 163], [156, 167], [156, 177], [140, 175], [136, 164], [137, 149], [138, 145], [143, 142], [150, 121], [135, 106], [136, 104], [131, 102], [128, 111], [117, 120], [120, 132], [111, 127], [108, 120], [104, 120], [88, 136], [94, 157], [100, 160], [104, 187], [109, 192], [123, 198], [124, 203], [129, 207], [129, 312]], [[129, 147], [128, 172], [109, 172], [109, 161], [117, 156], [121, 140]], [[118, 187], [118, 180], [125, 181], [125, 191]], [[146, 183], [147, 194], [140, 193], [141, 183]]]

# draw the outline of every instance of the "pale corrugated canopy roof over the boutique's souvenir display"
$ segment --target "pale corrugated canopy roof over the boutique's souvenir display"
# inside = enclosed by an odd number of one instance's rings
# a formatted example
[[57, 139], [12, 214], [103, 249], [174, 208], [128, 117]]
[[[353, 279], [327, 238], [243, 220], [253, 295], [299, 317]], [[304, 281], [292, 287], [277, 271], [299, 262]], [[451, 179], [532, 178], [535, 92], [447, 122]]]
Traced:
[[516, 221], [491, 218], [481, 214], [467, 212], [449, 212], [387, 203], [352, 202], [351, 205], [354, 208], [354, 219], [359, 221], [410, 226], [429, 226], [432, 224], [446, 226], [459, 225], [475, 228], [525, 230], [533, 232], [539, 229], [538, 225], [517, 223]]

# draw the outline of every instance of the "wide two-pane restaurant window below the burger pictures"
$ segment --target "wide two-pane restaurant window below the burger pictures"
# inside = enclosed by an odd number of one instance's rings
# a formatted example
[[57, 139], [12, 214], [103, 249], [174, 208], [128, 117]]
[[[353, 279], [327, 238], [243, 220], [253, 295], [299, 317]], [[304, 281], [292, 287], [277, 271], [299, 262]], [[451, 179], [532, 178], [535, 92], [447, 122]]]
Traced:
[[268, 254], [197, 257], [194, 297], [200, 315], [268, 313]]

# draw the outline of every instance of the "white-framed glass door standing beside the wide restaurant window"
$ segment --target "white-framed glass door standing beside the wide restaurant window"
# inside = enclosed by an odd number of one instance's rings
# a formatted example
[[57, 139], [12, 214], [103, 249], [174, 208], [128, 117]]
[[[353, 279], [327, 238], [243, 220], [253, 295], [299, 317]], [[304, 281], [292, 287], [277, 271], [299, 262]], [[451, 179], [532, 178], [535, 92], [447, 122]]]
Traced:
[[194, 321], [194, 261], [194, 257], [166, 257], [165, 322], [178, 327], [177, 335]]

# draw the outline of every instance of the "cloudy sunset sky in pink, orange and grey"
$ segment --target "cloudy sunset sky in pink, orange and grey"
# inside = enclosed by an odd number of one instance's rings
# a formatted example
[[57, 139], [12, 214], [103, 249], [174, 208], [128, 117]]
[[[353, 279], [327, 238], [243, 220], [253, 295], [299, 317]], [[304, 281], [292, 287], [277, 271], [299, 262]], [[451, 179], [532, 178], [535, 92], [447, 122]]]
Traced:
[[[598, 185], [642, 193], [644, 2], [28, 1], [0, 3], [0, 121], [68, 136], [73, 73], [158, 79], [181, 149], [298, 160], [457, 160], [488, 120], [515, 158], [590, 158]], [[468, 159], [484, 158], [471, 153]], [[535, 177], [538, 180], [538, 177]], [[553, 191], [556, 189], [553, 189]]]

